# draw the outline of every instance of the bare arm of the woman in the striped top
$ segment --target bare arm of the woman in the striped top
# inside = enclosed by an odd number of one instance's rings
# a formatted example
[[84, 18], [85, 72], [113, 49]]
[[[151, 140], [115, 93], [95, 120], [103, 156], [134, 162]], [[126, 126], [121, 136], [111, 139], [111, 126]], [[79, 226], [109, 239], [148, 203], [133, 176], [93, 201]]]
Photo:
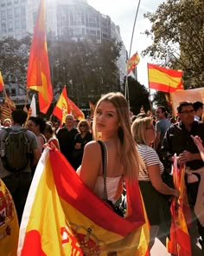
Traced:
[[167, 186], [161, 177], [159, 165], [152, 165], [147, 167], [148, 174], [150, 176], [150, 181], [153, 187], [161, 194], [172, 194], [176, 197], [179, 196], [179, 191], [177, 189]]

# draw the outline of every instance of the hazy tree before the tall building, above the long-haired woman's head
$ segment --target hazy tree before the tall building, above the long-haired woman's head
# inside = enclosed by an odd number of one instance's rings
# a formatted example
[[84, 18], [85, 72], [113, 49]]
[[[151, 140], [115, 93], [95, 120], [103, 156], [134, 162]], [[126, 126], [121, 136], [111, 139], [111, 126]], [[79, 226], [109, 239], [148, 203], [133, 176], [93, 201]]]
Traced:
[[97, 102], [101, 94], [119, 90], [116, 61], [120, 49], [121, 43], [114, 41], [48, 42], [55, 91], [60, 92], [67, 85], [68, 96], [73, 102], [88, 108], [88, 99]]

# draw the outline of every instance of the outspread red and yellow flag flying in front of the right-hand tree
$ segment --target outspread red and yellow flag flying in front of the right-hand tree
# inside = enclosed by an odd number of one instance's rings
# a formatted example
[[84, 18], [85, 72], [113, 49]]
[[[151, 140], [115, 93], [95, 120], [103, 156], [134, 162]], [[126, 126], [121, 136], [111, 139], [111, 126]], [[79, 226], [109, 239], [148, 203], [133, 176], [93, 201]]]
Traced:
[[150, 89], [156, 89], [166, 93], [183, 89], [182, 70], [166, 69], [148, 63], [148, 76]]

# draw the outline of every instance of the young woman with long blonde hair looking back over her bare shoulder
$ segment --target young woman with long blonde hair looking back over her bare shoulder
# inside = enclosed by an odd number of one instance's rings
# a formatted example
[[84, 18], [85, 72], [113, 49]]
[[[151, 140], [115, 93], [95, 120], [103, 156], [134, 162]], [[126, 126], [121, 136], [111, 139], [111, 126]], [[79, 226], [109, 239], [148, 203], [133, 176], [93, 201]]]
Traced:
[[95, 141], [86, 144], [78, 174], [94, 194], [104, 198], [103, 162], [97, 142], [100, 137], [107, 151], [107, 197], [115, 203], [122, 194], [123, 180], [137, 181], [139, 172], [138, 153], [131, 136], [129, 108], [124, 95], [109, 93], [101, 97], [94, 111], [92, 130]]

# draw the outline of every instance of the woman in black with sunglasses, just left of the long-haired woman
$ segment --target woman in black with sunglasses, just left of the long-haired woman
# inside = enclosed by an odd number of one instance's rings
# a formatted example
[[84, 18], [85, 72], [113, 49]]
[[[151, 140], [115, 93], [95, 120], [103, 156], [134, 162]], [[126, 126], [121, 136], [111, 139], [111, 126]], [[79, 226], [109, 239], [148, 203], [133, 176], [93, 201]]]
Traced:
[[79, 133], [75, 136], [73, 141], [73, 168], [75, 170], [80, 167], [86, 143], [92, 141], [90, 124], [87, 120], [80, 120], [77, 129]]

